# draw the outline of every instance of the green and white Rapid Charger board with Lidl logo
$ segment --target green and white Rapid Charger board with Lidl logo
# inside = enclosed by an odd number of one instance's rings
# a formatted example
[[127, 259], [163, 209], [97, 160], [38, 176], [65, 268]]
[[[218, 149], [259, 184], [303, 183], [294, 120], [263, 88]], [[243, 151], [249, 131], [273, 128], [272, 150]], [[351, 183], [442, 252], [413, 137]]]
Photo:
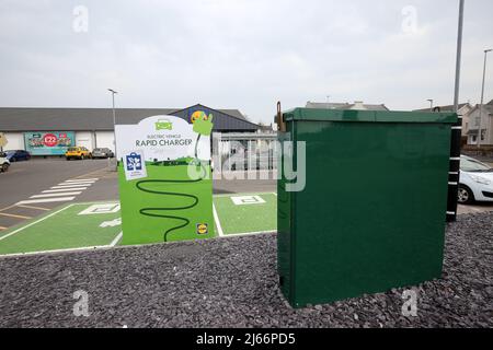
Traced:
[[153, 116], [115, 127], [122, 244], [215, 236], [213, 115], [202, 113], [191, 121]]

